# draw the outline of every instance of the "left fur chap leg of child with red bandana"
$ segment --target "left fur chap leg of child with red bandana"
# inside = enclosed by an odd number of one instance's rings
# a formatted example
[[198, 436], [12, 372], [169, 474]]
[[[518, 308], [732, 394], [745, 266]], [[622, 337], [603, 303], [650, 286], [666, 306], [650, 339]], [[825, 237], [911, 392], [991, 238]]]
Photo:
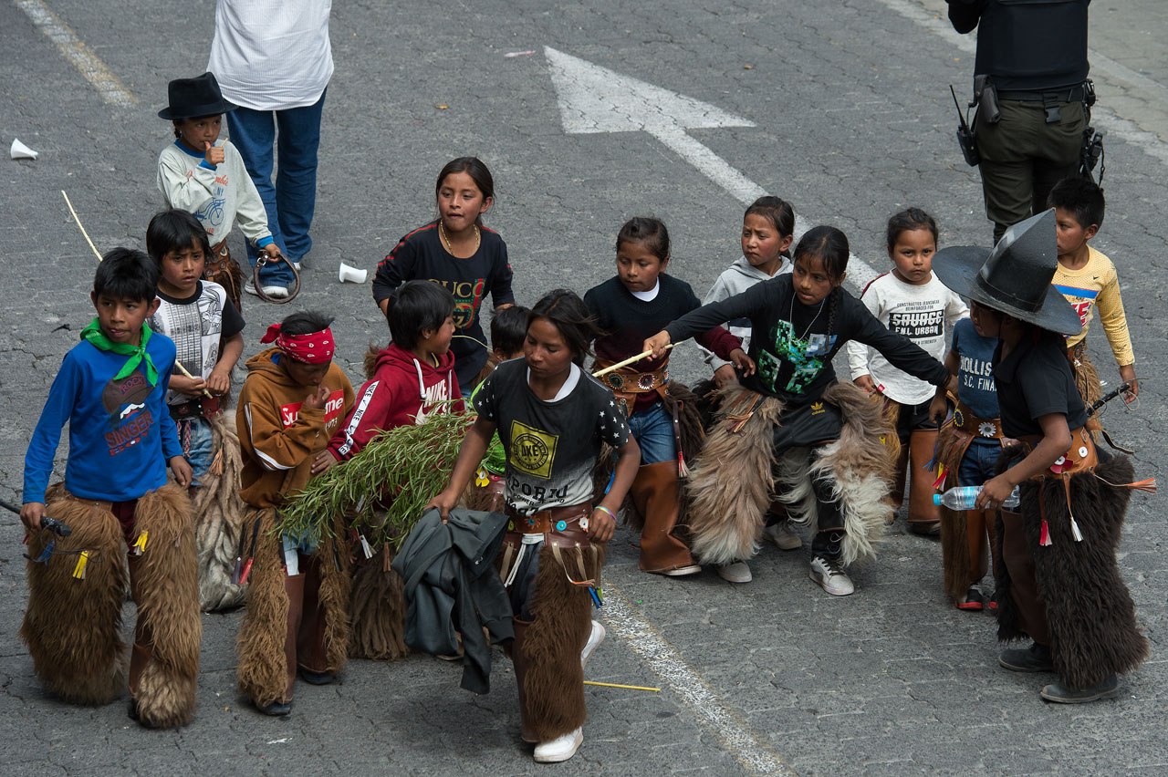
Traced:
[[273, 701], [285, 700], [287, 658], [284, 640], [287, 635], [288, 595], [284, 589], [286, 570], [280, 555], [280, 540], [272, 533], [276, 510], [269, 508], [249, 513], [244, 526], [252, 525], [256, 519], [263, 523], [248, 579], [248, 615], [235, 643], [239, 660], [236, 677], [239, 692], [257, 707], [266, 707]]

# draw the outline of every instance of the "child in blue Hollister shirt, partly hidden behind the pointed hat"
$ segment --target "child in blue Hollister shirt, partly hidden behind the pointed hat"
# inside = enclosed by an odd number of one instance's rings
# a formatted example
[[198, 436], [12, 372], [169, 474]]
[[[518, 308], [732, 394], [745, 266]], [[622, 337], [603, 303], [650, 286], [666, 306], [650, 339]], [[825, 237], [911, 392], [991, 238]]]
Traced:
[[[996, 473], [1002, 448], [1016, 442], [1002, 435], [994, 387], [993, 357], [996, 337], [987, 337], [980, 316], [961, 318], [953, 327], [953, 343], [945, 366], [953, 376], [950, 394], [955, 394], [953, 416], [937, 434], [934, 485], [940, 491], [962, 485], [981, 485]], [[947, 414], [945, 399], [933, 398], [932, 418]], [[959, 610], [981, 611], [986, 596], [981, 579], [996, 545], [993, 513], [985, 510], [950, 510], [938, 505], [941, 520], [941, 562], [945, 593]], [[988, 541], [988, 545], [987, 545]], [[989, 553], [987, 554], [987, 548]], [[996, 598], [989, 600], [996, 607]]]

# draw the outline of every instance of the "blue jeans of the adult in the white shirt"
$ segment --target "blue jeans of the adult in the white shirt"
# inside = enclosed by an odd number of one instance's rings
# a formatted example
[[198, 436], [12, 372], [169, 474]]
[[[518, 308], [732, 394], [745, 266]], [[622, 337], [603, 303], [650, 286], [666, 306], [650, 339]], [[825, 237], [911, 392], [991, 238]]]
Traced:
[[[285, 111], [253, 111], [237, 107], [227, 114], [231, 142], [239, 149], [248, 174], [264, 201], [267, 229], [291, 261], [312, 249], [308, 229], [317, 210], [317, 149], [320, 147], [320, 114], [325, 94], [313, 105]], [[279, 134], [277, 135], [277, 130]], [[273, 147], [279, 154], [279, 173], [272, 184]], [[256, 249], [248, 244], [248, 261], [255, 267]], [[264, 285], [288, 286], [292, 271], [278, 262], [259, 273]]]

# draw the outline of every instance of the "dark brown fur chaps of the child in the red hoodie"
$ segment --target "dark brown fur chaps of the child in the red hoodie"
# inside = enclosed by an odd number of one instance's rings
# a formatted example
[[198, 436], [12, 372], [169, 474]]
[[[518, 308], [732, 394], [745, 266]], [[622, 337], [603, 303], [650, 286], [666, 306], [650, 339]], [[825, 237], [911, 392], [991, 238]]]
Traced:
[[394, 555], [382, 546], [353, 568], [349, 656], [354, 658], [396, 662], [410, 652], [405, 646], [405, 582], [388, 568]]

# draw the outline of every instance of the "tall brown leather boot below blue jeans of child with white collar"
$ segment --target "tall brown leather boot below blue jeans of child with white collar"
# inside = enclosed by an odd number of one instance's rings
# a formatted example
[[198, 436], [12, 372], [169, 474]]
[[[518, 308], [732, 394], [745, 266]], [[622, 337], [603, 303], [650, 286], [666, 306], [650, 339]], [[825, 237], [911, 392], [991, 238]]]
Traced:
[[637, 480], [630, 492], [637, 511], [645, 518], [645, 527], [641, 530], [641, 570], [672, 576], [701, 572], [689, 547], [673, 534], [681, 511], [677, 464], [672, 461], [644, 464], [637, 470]]

